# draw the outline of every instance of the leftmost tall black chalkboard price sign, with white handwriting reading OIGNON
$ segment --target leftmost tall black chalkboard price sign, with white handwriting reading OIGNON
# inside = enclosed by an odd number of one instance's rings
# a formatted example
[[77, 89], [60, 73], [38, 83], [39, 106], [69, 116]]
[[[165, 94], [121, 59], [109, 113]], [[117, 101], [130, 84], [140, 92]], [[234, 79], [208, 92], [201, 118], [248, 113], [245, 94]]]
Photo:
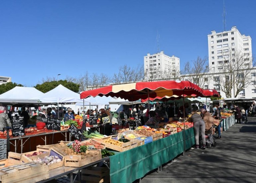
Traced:
[[12, 116], [12, 136], [25, 136], [24, 116]]

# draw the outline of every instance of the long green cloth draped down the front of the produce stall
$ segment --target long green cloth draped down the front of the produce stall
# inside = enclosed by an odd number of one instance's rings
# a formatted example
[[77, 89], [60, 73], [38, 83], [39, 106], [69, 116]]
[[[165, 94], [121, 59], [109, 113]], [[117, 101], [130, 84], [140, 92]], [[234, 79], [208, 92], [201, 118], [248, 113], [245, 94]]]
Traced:
[[[174, 159], [184, 150], [183, 133], [184, 131], [110, 156], [111, 183], [133, 182]], [[194, 145], [193, 128], [185, 130], [185, 136], [187, 150]]]

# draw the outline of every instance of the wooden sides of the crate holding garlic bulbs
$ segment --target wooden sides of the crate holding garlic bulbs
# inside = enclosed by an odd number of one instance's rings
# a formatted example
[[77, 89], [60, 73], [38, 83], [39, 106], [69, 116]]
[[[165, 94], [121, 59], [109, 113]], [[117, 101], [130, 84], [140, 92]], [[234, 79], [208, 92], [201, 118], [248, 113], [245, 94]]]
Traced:
[[65, 154], [63, 154], [61, 151], [59, 151], [55, 147], [51, 148], [50, 151], [47, 152], [47, 153], [39, 154], [37, 156], [31, 156], [31, 157], [28, 157], [28, 158], [32, 161], [35, 161], [35, 160], [38, 160], [38, 158], [42, 159], [46, 156], [58, 156], [58, 158], [61, 159], [60, 162], [47, 164], [49, 170], [52, 170], [52, 169], [55, 169], [55, 168], [58, 168], [58, 167], [61, 167], [61, 166], [64, 165], [64, 156], [65, 156]]

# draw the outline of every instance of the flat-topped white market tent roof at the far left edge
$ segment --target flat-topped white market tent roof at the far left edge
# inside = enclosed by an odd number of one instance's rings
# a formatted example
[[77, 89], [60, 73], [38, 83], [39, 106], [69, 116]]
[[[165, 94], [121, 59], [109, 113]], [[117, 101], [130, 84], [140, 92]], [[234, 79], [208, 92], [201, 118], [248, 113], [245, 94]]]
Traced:
[[39, 99], [39, 95], [44, 94], [34, 87], [15, 86], [13, 89], [0, 95], [2, 99]]

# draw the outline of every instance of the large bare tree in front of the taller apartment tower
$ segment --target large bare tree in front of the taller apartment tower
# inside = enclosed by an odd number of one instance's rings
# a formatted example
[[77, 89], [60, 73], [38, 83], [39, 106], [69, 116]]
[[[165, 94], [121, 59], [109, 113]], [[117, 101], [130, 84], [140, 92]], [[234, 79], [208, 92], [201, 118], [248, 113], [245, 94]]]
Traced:
[[234, 97], [237, 97], [251, 83], [251, 72], [255, 66], [254, 58], [233, 48], [223, 50], [218, 59], [218, 66], [215, 69], [217, 76], [214, 77], [214, 81], [227, 98], [231, 98], [232, 89]]

